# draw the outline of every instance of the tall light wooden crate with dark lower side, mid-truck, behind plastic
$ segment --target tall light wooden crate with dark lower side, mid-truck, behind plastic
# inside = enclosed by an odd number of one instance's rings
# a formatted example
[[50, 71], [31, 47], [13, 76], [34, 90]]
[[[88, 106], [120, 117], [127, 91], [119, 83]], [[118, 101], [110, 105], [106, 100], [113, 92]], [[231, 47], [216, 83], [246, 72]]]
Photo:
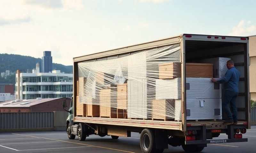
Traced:
[[117, 118], [116, 87], [100, 90], [100, 117]]

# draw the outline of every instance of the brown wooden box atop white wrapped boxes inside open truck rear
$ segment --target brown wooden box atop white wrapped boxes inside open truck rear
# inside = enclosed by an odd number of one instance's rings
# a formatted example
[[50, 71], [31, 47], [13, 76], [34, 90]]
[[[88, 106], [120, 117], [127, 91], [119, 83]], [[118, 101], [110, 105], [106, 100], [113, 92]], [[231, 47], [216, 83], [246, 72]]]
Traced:
[[213, 77], [213, 64], [186, 63], [186, 77]]

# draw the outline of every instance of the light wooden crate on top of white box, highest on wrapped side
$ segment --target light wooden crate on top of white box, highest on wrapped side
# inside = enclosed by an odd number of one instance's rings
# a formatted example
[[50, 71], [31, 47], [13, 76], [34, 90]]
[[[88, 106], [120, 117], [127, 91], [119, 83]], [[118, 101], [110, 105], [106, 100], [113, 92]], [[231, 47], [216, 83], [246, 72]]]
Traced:
[[159, 79], [173, 79], [181, 76], [180, 62], [159, 64]]

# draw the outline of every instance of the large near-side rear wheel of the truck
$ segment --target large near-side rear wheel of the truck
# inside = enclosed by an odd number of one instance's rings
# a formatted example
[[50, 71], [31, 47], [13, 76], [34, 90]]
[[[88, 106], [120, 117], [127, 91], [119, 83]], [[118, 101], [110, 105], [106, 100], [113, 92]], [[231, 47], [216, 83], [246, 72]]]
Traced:
[[143, 153], [162, 153], [164, 149], [156, 149], [154, 131], [148, 128], [140, 134], [140, 149]]

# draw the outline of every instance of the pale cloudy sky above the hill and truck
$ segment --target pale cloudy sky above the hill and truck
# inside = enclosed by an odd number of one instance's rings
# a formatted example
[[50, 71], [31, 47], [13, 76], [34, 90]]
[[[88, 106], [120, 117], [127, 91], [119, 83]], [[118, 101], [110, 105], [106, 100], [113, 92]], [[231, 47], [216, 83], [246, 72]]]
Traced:
[[256, 1], [0, 0], [0, 53], [55, 63], [182, 33], [256, 35]]

